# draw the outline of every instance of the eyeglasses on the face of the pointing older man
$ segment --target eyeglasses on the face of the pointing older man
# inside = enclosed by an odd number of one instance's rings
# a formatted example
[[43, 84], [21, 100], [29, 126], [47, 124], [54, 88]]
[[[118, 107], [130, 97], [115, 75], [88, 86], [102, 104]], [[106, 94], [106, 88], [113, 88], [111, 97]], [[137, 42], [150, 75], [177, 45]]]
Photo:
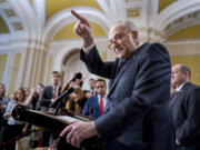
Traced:
[[118, 44], [119, 41], [123, 41], [128, 33], [129, 33], [129, 31], [127, 33], [116, 34], [114, 38], [112, 40], [110, 40], [110, 44], [108, 46], [108, 48], [110, 50], [113, 50], [114, 44]]

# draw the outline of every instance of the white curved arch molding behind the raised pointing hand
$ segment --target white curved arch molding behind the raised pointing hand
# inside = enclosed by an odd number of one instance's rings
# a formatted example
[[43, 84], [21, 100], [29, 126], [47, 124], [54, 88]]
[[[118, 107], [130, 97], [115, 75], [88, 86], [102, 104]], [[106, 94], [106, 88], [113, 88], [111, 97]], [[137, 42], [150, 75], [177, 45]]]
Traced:
[[70, 10], [72, 9], [86, 17], [89, 21], [98, 23], [100, 27], [103, 28], [106, 33], [108, 33], [110, 28], [110, 21], [101, 11], [90, 7], [76, 7], [62, 10], [56, 13], [50, 20], [48, 20], [46, 31], [43, 34], [44, 40], [52, 41], [53, 36], [62, 27], [77, 21], [77, 19], [73, 16], [71, 16]]

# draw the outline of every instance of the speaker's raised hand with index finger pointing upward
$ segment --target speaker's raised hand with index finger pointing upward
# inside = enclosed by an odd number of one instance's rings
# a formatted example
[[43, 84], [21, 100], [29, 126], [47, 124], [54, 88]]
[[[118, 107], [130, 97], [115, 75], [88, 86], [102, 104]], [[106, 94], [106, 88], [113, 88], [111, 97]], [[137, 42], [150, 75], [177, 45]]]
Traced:
[[79, 20], [73, 28], [74, 32], [83, 39], [84, 48], [90, 47], [93, 43], [93, 37], [89, 21], [74, 10], [71, 10], [71, 13]]

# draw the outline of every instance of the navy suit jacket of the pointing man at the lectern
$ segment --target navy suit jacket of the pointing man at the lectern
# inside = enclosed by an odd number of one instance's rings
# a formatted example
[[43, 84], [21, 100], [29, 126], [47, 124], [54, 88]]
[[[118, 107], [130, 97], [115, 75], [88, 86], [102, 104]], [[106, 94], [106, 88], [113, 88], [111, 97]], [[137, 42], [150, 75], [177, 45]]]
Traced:
[[169, 109], [171, 64], [162, 44], [144, 43], [126, 61], [102, 62], [93, 47], [81, 60], [91, 73], [110, 79], [109, 108], [96, 120], [107, 149], [173, 150]]

